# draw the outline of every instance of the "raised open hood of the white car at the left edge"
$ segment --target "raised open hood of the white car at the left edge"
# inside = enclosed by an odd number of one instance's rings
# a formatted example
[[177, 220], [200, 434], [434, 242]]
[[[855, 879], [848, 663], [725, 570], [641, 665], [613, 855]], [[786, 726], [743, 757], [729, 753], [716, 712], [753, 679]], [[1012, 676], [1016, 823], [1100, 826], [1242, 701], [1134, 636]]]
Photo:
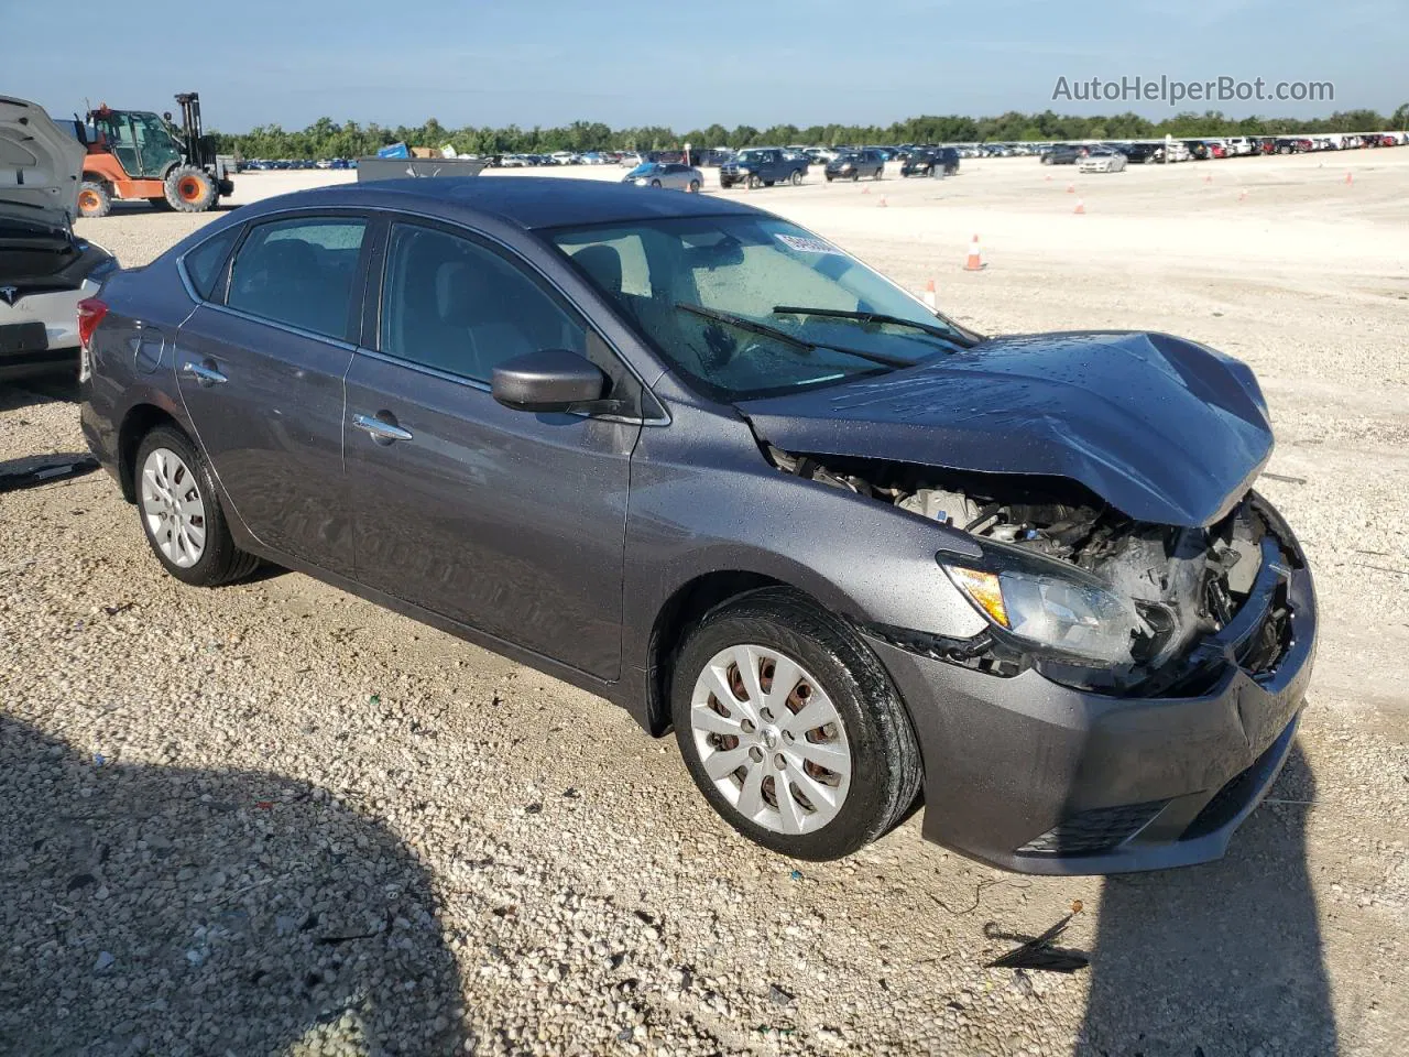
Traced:
[[0, 211], [66, 227], [79, 210], [87, 151], [42, 109], [0, 96]]

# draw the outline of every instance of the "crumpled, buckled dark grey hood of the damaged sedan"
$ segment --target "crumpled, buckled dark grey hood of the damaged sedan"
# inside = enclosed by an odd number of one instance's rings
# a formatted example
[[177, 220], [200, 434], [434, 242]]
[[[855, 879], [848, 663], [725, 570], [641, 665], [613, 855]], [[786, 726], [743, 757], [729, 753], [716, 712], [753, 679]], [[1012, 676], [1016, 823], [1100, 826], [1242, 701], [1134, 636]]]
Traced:
[[1188, 527], [1227, 513], [1272, 454], [1251, 369], [1168, 334], [991, 338], [738, 409], [790, 452], [1068, 478], [1136, 520]]

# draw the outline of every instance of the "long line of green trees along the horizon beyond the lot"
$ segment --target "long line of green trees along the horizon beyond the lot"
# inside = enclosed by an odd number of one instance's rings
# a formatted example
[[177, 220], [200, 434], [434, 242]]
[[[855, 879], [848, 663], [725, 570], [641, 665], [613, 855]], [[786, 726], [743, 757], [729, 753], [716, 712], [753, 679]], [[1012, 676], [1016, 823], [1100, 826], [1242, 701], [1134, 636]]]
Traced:
[[1330, 117], [1224, 117], [1220, 111], [1181, 113], [1161, 121], [1138, 114], [1081, 117], [1045, 110], [1040, 114], [1009, 111], [998, 117], [924, 116], [889, 125], [772, 125], [754, 128], [720, 124], [676, 132], [662, 125], [610, 128], [600, 121], [573, 121], [558, 128], [447, 128], [434, 117], [417, 127], [335, 123], [320, 117], [302, 131], [259, 125], [248, 132], [214, 132], [223, 154], [245, 158], [358, 158], [395, 142], [441, 148], [459, 154], [552, 154], [554, 151], [665, 151], [690, 144], [710, 147], [782, 147], [786, 144], [941, 144], [1014, 142], [1047, 140], [1155, 140], [1213, 135], [1289, 135], [1292, 132], [1370, 132], [1409, 127], [1409, 103], [1385, 117], [1374, 110], [1344, 110]]

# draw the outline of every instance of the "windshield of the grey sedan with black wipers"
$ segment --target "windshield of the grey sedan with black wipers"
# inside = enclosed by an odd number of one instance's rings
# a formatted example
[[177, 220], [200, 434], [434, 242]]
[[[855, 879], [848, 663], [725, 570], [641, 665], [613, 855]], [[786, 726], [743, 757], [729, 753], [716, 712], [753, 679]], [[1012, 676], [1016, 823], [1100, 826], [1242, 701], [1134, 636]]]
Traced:
[[837, 385], [896, 369], [875, 357], [903, 364], [968, 345], [962, 331], [889, 279], [774, 217], [640, 220], [548, 237], [686, 383], [712, 399]]

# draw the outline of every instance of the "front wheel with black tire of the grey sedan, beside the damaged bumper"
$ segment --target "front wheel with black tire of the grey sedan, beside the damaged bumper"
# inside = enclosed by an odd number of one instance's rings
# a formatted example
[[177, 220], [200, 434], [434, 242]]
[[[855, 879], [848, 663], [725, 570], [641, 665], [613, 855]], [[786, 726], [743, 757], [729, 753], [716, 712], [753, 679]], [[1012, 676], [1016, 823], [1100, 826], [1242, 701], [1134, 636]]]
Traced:
[[675, 665], [672, 712], [710, 806], [783, 855], [850, 855], [919, 793], [919, 746], [885, 668], [847, 624], [789, 589], [704, 617]]

